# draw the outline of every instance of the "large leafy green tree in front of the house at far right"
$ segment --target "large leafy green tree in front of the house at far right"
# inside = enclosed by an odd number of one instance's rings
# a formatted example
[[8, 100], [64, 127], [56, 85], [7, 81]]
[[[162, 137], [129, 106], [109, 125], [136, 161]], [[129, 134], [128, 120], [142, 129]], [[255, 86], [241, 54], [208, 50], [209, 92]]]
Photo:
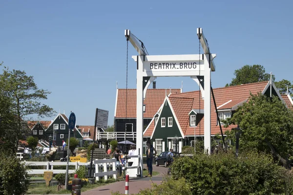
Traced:
[[[286, 108], [278, 97], [251, 95], [248, 102], [227, 121], [242, 129], [240, 151], [266, 152], [285, 168], [291, 167], [288, 158], [293, 155], [293, 111]], [[230, 132], [230, 139], [235, 141], [233, 131]]]

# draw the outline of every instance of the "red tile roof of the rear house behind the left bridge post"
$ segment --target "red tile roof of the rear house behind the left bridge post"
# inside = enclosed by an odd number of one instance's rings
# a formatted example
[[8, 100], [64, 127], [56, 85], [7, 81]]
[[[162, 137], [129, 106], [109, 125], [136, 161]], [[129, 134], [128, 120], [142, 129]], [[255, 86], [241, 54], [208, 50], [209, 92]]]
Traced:
[[[144, 104], [146, 112], [144, 118], [152, 118], [160, 106], [165, 96], [170, 93], [170, 89], [147, 89]], [[181, 89], [171, 89], [171, 94], [180, 94]], [[118, 89], [116, 99], [116, 118], [126, 117], [126, 89]], [[136, 118], [136, 89], [127, 89], [127, 118]]]

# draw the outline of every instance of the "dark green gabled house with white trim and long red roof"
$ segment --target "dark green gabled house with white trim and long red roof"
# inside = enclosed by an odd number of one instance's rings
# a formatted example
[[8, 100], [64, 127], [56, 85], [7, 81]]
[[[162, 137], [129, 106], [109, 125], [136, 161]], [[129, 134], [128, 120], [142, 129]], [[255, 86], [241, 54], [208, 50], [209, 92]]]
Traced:
[[[235, 110], [247, 102], [250, 94], [271, 94], [270, 82], [258, 82], [213, 89], [220, 120], [229, 118]], [[287, 107], [292, 107], [290, 95], [280, 95], [272, 82], [272, 95], [278, 96]], [[204, 139], [204, 99], [199, 91], [171, 94], [153, 116], [144, 131], [144, 138], [150, 139], [158, 153], [170, 148], [181, 152], [183, 146], [193, 146], [198, 138]], [[221, 134], [216, 109], [211, 98], [211, 136]], [[222, 131], [235, 128], [230, 125]], [[224, 135], [226, 136], [226, 135]]]

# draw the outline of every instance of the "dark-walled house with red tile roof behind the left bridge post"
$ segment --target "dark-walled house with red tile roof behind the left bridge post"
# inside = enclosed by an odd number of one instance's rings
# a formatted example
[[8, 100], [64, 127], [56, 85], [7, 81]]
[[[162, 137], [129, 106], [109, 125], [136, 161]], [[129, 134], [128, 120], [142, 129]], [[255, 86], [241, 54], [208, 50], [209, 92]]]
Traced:
[[[152, 117], [162, 105], [166, 95], [170, 96], [171, 94], [180, 94], [181, 92], [182, 89], [156, 89], [155, 84], [153, 84], [153, 89], [147, 89], [146, 98], [144, 99], [144, 128], [151, 122]], [[113, 138], [118, 141], [125, 139], [132, 142], [136, 141], [136, 89], [126, 90], [117, 88], [114, 127], [117, 136]]]

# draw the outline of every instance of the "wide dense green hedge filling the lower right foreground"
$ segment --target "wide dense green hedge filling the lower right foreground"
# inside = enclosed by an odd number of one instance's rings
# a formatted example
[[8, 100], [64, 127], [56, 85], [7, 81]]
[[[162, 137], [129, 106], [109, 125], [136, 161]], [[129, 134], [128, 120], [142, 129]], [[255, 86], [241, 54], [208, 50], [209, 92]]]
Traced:
[[284, 192], [283, 170], [264, 154], [198, 154], [176, 158], [172, 178], [185, 178], [194, 195], [271, 195]]

